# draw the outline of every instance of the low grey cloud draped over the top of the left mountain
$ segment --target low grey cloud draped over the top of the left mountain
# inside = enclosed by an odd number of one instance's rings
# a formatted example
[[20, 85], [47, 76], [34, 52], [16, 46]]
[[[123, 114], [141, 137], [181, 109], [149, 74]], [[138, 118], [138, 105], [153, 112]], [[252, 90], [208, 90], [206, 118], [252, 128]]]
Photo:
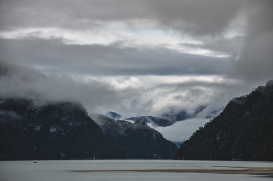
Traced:
[[[3, 66], [4, 65], [4, 66]], [[1, 97], [24, 97], [38, 104], [47, 101], [79, 101], [88, 111], [115, 107], [122, 94], [109, 85], [98, 81], [89, 84], [76, 82], [67, 75], [42, 75], [27, 67], [15, 66], [0, 61], [0, 66], [8, 71], [0, 77]], [[127, 96], [130, 96], [130, 91]], [[134, 93], [136, 95], [136, 93]]]

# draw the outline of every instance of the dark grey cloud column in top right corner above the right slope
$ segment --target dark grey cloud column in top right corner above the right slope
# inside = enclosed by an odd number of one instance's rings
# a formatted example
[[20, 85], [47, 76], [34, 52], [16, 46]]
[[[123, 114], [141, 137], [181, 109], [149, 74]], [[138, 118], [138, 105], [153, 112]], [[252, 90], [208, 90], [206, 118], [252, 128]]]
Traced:
[[273, 1], [256, 1], [249, 7], [248, 35], [234, 64], [246, 79], [272, 79]]

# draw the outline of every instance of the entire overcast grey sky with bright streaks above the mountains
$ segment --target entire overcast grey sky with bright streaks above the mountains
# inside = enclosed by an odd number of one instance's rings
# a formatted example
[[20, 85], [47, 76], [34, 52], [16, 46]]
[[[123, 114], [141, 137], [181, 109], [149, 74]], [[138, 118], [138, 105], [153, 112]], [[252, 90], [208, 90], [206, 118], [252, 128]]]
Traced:
[[271, 0], [1, 0], [0, 60], [15, 67], [0, 95], [75, 100], [125, 117], [207, 106], [176, 126], [195, 130], [273, 79], [272, 8]]

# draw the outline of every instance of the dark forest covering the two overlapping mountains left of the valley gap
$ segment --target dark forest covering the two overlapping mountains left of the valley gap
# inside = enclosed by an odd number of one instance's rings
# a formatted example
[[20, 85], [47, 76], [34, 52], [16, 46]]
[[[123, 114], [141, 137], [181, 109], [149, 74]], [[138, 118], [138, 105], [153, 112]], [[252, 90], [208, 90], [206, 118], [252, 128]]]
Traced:
[[75, 102], [0, 99], [0, 160], [172, 159], [177, 150], [144, 122], [98, 117], [101, 128]]

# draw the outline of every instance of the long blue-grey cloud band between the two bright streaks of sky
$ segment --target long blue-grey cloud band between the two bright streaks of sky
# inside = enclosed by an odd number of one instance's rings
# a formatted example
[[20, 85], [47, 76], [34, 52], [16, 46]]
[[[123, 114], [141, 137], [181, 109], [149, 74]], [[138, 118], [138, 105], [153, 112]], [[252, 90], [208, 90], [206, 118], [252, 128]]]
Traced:
[[164, 48], [66, 45], [58, 39], [0, 39], [0, 53], [3, 60], [16, 64], [75, 74], [182, 75], [230, 71], [227, 58], [182, 54]]

